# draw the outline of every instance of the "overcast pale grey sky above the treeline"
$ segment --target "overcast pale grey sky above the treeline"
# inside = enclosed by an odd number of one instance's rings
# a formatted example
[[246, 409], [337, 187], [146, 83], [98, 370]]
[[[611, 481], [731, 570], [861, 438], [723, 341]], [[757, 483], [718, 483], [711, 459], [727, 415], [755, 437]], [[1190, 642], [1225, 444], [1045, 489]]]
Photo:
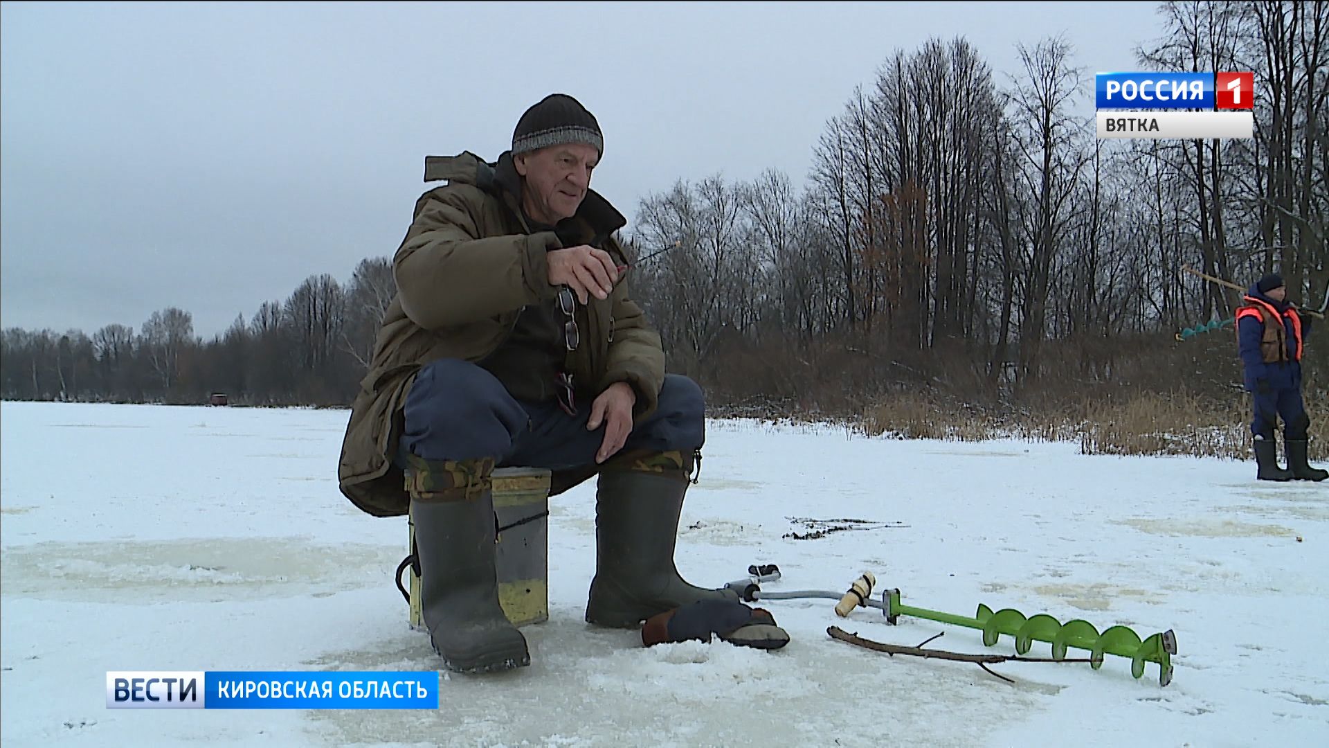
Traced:
[[897, 48], [965, 36], [1005, 84], [1017, 43], [1063, 33], [1087, 76], [1135, 69], [1156, 7], [3, 3], [0, 325], [179, 306], [210, 338], [311, 274], [344, 282], [396, 250], [425, 156], [496, 157], [550, 92], [599, 120], [591, 186], [631, 220], [676, 178], [801, 182]]

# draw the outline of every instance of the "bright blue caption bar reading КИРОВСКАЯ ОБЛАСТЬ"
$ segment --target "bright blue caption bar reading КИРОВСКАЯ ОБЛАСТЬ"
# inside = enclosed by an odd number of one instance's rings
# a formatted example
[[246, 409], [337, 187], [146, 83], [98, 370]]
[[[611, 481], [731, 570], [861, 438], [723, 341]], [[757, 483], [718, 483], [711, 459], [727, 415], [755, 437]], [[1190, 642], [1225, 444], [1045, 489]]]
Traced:
[[437, 709], [439, 673], [206, 671], [206, 709]]

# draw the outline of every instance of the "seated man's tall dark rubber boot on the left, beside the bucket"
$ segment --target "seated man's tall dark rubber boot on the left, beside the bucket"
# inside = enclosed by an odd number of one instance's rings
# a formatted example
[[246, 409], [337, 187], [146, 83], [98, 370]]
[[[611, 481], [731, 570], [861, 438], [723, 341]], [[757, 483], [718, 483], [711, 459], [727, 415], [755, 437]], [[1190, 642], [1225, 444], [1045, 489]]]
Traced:
[[530, 664], [526, 638], [498, 604], [493, 461], [409, 458], [407, 488], [420, 559], [420, 612], [448, 669]]

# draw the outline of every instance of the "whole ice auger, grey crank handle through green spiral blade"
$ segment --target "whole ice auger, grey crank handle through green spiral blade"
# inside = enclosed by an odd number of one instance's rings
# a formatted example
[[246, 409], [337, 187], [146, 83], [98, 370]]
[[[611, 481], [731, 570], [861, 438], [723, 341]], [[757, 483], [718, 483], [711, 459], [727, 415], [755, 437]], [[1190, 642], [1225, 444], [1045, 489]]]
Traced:
[[[763, 574], [764, 571], [764, 574]], [[848, 618], [857, 607], [877, 608], [886, 618], [886, 623], [894, 626], [901, 615], [964, 626], [983, 632], [983, 646], [991, 647], [1002, 634], [1015, 639], [1015, 652], [1023, 655], [1029, 652], [1033, 643], [1043, 642], [1053, 646], [1053, 659], [1066, 659], [1069, 648], [1087, 650], [1090, 652], [1090, 667], [1098, 669], [1103, 667], [1103, 655], [1130, 657], [1131, 675], [1142, 677], [1146, 663], [1159, 665], [1159, 685], [1172, 683], [1172, 659], [1176, 654], [1176, 635], [1172, 630], [1152, 634], [1146, 639], [1126, 626], [1112, 626], [1099, 634], [1094, 624], [1086, 620], [1058, 622], [1047, 614], [1038, 614], [1026, 618], [1025, 614], [1002, 608], [993, 611], [985, 604], [978, 606], [978, 612], [970, 616], [953, 615], [940, 611], [930, 611], [900, 602], [898, 588], [882, 590], [881, 600], [872, 599], [872, 588], [877, 579], [870, 571], [863, 572], [849, 590], [833, 592], [825, 590], [795, 590], [788, 592], [766, 592], [760, 583], [764, 580], [780, 579], [779, 567], [748, 567], [748, 576], [730, 582], [724, 587], [734, 590], [744, 602], [758, 600], [792, 600], [801, 598], [827, 598], [839, 600], [835, 612], [840, 618]]]

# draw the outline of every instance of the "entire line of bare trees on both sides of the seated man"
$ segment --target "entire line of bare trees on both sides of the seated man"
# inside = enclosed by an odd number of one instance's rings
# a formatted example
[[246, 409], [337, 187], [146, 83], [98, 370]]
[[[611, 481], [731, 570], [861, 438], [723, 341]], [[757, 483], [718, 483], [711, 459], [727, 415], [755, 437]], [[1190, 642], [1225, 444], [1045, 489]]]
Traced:
[[[1018, 47], [998, 80], [965, 39], [934, 39], [852, 92], [804, 184], [768, 170], [645, 197], [626, 241], [674, 249], [630, 278], [670, 369], [712, 402], [844, 405], [901, 379], [1019, 395], [1208, 345], [1172, 337], [1240, 299], [1184, 265], [1244, 283], [1278, 270], [1293, 301], [1318, 303], [1329, 3], [1170, 3], [1160, 23], [1138, 64], [1255, 71], [1255, 140], [1096, 140], [1092, 75], [1065, 40]], [[376, 258], [207, 342], [177, 309], [138, 334], [7, 330], [3, 395], [344, 403], [393, 293]]]

